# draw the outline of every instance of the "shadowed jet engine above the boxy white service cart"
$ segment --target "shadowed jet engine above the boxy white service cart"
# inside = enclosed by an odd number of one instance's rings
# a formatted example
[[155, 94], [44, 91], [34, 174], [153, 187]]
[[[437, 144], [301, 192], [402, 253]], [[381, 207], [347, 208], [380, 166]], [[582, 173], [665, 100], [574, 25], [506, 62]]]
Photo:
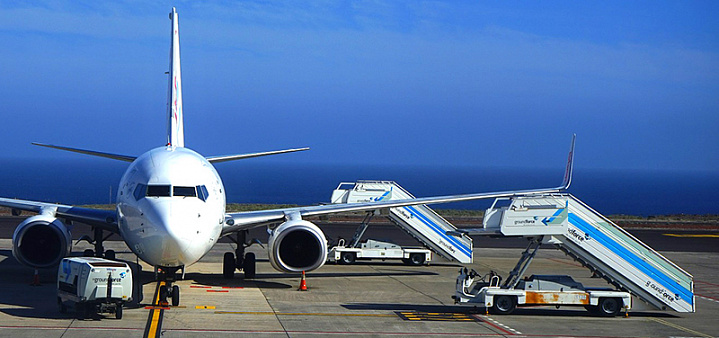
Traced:
[[12, 254], [33, 268], [49, 268], [70, 254], [72, 237], [59, 219], [49, 215], [29, 217], [15, 228]]

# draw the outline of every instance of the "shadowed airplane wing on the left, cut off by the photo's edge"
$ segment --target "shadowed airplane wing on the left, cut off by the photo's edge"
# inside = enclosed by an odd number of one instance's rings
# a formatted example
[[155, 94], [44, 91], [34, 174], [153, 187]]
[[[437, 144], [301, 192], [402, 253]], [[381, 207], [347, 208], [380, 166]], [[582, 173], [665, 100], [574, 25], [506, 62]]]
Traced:
[[51, 212], [57, 218], [78, 221], [102, 228], [103, 230], [119, 233], [117, 226], [117, 212], [115, 210], [81, 208], [71, 205], [11, 198], [0, 198], [0, 206], [14, 210], [24, 210], [36, 213]]

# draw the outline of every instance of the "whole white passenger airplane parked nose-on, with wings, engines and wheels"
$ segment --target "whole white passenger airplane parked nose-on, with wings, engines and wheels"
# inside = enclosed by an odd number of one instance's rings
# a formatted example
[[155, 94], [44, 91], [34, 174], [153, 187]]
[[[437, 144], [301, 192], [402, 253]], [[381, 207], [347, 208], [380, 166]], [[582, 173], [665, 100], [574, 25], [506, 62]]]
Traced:
[[0, 206], [11, 208], [14, 215], [20, 215], [22, 211], [37, 213], [22, 221], [13, 233], [12, 252], [20, 263], [36, 270], [57, 266], [71, 253], [72, 237], [68, 226], [73, 222], [88, 224], [93, 228], [94, 238], [86, 239], [94, 243], [94, 250], [86, 250], [85, 255], [114, 259], [114, 251], [103, 248], [104, 232], [120, 234], [137, 257], [155, 268], [158, 281], [165, 282], [160, 288], [161, 300], [166, 302], [171, 298], [172, 305], [177, 306], [180, 289], [174, 282], [178, 271], [184, 275], [185, 268], [207, 254], [221, 237], [229, 237], [237, 245], [235, 252], [224, 254], [222, 274], [225, 278], [233, 278], [236, 270], [242, 270], [244, 278], [255, 277], [255, 254], [245, 253], [245, 248], [252, 244], [248, 240], [248, 231], [260, 226], [268, 227], [267, 250], [276, 270], [312, 271], [327, 260], [328, 244], [322, 230], [305, 219], [310, 216], [554, 193], [569, 188], [576, 135], [572, 138], [564, 180], [555, 188], [228, 213], [225, 189], [214, 164], [309, 148], [205, 157], [185, 147], [179, 21], [174, 7], [170, 20], [167, 143], [140, 156], [33, 143], [130, 162], [130, 165], [120, 180], [114, 210], [0, 198]]

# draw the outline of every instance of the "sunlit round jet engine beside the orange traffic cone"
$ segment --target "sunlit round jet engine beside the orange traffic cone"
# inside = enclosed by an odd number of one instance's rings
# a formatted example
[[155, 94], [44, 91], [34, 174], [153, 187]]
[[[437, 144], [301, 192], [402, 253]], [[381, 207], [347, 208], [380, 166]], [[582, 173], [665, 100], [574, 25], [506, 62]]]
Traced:
[[327, 261], [327, 239], [305, 220], [280, 224], [270, 234], [267, 250], [272, 267], [284, 272], [312, 271]]

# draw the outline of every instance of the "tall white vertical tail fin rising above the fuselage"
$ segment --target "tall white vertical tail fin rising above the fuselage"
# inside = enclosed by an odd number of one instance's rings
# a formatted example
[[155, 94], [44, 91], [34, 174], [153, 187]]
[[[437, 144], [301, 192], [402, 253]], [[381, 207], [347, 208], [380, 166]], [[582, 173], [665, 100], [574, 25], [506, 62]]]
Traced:
[[172, 34], [170, 43], [170, 71], [167, 88], [167, 145], [185, 146], [184, 124], [182, 122], [182, 77], [180, 74], [180, 33], [177, 11], [172, 7]]

